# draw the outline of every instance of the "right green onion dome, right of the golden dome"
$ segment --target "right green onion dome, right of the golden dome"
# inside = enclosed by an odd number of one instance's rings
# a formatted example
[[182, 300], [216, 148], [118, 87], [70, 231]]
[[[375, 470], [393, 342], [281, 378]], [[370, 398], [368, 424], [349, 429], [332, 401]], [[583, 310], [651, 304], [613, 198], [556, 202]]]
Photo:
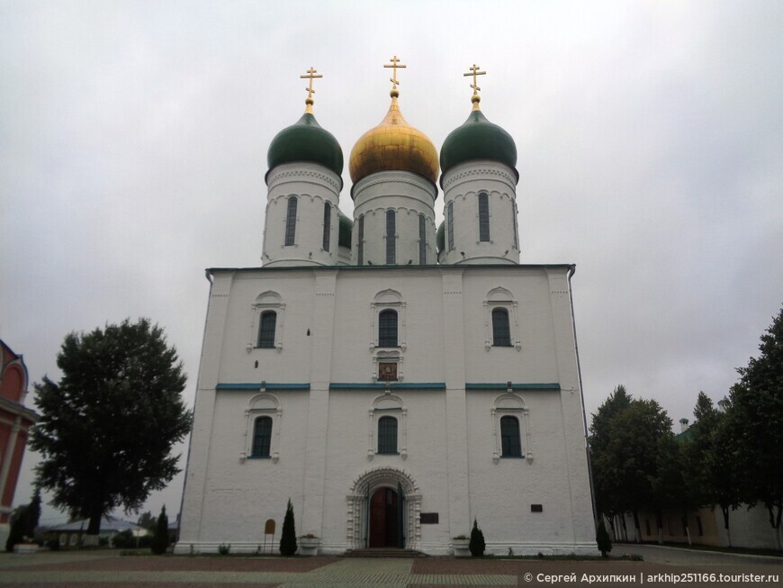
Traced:
[[[440, 168], [443, 174], [465, 161], [489, 159], [514, 170], [517, 178], [517, 145], [508, 132], [489, 122], [478, 102], [461, 127], [451, 131], [440, 149]], [[441, 175], [443, 180], [443, 175]]]

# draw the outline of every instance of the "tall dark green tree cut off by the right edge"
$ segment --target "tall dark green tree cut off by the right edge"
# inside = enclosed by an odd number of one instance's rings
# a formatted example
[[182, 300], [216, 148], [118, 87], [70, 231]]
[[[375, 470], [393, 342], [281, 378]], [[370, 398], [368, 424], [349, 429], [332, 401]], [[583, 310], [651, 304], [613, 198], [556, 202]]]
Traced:
[[[779, 537], [783, 517], [783, 309], [761, 336], [761, 355], [739, 367], [727, 421], [743, 502], [761, 502]], [[740, 458], [741, 457], [741, 458]]]

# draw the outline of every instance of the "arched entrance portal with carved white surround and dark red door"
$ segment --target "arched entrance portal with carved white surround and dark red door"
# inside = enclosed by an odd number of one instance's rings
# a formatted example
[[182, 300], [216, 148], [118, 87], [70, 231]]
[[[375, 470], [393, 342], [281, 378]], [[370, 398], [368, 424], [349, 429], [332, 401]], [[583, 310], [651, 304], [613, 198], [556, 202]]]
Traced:
[[347, 544], [418, 549], [421, 494], [407, 472], [379, 467], [360, 475], [347, 495]]

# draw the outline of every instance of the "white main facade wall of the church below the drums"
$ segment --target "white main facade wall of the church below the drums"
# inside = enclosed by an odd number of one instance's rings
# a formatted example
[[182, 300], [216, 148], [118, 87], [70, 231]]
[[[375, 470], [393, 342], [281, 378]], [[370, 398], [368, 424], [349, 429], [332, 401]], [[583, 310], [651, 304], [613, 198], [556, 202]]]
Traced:
[[[387, 486], [406, 496], [406, 547], [446, 554], [476, 518], [490, 552], [594, 552], [571, 269], [211, 270], [176, 551], [255, 551], [267, 519], [279, 541], [289, 498], [297, 535], [322, 538], [322, 552], [365, 547], [367, 492]], [[512, 347], [488, 344], [495, 305], [516, 317]], [[279, 344], [255, 348], [266, 308]], [[400, 317], [398, 348], [376, 346], [384, 308]], [[384, 358], [398, 362], [388, 388], [375, 380]], [[496, 455], [504, 411], [524, 423], [522, 458]], [[248, 458], [262, 413], [272, 457]], [[399, 455], [375, 453], [384, 414]]]

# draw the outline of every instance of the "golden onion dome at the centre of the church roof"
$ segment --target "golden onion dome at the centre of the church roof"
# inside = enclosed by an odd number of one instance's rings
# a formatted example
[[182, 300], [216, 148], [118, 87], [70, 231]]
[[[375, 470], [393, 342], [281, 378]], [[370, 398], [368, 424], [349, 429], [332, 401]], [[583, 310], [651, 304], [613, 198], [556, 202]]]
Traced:
[[392, 90], [392, 105], [377, 127], [365, 132], [351, 150], [348, 169], [356, 184], [376, 171], [412, 171], [433, 183], [437, 180], [435, 145], [428, 136], [408, 124], [397, 104], [398, 91]]

